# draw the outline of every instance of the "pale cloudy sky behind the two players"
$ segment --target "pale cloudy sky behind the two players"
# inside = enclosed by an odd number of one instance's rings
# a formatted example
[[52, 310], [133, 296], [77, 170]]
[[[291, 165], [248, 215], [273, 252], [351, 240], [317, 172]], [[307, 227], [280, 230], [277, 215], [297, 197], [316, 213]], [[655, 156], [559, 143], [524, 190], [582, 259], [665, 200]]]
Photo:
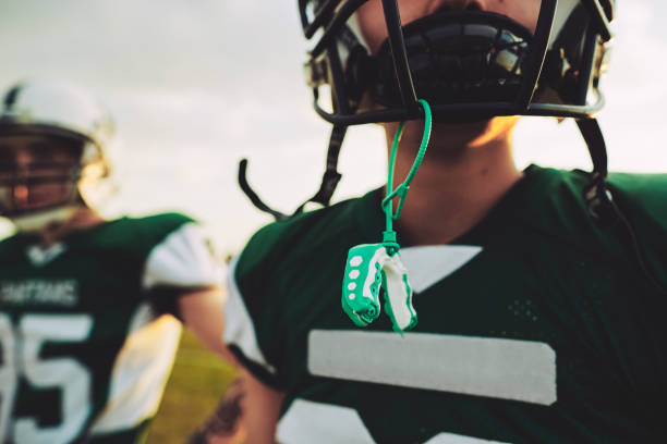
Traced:
[[[663, 0], [620, 3], [601, 114], [614, 170], [667, 172], [665, 17]], [[111, 110], [119, 192], [108, 214], [185, 211], [229, 252], [270, 221], [239, 190], [239, 159], [251, 159], [251, 183], [283, 210], [319, 185], [328, 126], [303, 83], [295, 0], [2, 0], [0, 41], [0, 88], [64, 79]], [[568, 122], [524, 120], [516, 152], [520, 165], [590, 165]], [[336, 198], [381, 184], [385, 162], [379, 130], [352, 130]]]

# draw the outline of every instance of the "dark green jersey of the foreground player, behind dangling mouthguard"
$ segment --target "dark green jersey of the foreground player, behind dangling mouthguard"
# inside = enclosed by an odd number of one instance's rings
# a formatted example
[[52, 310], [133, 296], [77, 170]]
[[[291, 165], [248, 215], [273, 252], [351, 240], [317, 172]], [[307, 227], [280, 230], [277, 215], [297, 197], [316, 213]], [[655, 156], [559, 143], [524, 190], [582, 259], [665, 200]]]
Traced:
[[[416, 328], [341, 308], [348, 249], [381, 240], [383, 192], [262, 229], [234, 263], [226, 340], [287, 393], [278, 441], [667, 441], [667, 297], [596, 223], [584, 174], [531, 166], [449, 245], [410, 246]], [[613, 174], [646, 267], [667, 283], [667, 175]]]

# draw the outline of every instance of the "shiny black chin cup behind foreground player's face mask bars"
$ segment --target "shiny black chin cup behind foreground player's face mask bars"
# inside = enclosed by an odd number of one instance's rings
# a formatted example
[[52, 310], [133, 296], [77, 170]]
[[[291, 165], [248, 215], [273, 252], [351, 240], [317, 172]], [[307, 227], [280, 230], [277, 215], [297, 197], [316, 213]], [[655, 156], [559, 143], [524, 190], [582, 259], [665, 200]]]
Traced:
[[[504, 15], [442, 11], [407, 25], [403, 38], [416, 96], [437, 106], [512, 101], [533, 35]], [[376, 103], [400, 107], [389, 41], [372, 60], [366, 90]]]

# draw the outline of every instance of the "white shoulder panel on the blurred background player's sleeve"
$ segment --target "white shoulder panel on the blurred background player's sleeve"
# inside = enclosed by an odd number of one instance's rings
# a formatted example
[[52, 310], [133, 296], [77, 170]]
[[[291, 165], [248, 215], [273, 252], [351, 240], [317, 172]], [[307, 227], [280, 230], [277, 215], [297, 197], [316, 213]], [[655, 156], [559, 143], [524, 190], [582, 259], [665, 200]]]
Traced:
[[156, 245], [144, 270], [142, 285], [177, 287], [221, 286], [223, 271], [208, 247], [205, 230], [190, 222]]

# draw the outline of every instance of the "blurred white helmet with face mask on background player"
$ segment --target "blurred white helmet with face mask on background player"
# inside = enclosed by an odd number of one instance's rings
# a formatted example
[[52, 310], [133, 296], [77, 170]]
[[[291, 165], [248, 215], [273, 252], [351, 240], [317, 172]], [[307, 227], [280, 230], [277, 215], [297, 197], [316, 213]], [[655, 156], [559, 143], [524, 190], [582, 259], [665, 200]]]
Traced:
[[[0, 215], [20, 231], [38, 231], [88, 205], [87, 190], [109, 174], [113, 124], [106, 110], [77, 87], [46, 82], [13, 86], [0, 106]], [[56, 155], [63, 146], [66, 162]], [[26, 149], [27, 161], [20, 155]]]

